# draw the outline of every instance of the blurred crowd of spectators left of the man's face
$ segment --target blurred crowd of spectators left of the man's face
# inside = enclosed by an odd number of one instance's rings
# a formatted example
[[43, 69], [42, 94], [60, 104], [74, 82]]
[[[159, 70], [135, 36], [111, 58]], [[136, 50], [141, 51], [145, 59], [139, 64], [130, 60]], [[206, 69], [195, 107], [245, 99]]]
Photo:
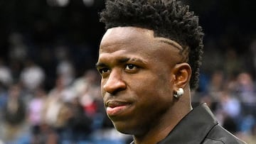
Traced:
[[33, 50], [35, 57], [20, 33], [9, 40], [9, 59], [0, 60], [0, 142], [129, 143], [105, 114], [95, 68], [76, 70], [65, 45]]

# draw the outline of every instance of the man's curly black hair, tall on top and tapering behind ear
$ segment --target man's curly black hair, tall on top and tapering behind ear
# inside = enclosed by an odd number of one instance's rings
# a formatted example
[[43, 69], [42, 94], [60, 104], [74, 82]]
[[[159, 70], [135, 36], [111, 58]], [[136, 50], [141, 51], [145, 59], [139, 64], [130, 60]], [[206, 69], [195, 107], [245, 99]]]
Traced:
[[203, 54], [203, 29], [198, 16], [189, 6], [176, 0], [107, 0], [100, 13], [105, 28], [134, 26], [154, 31], [158, 37], [169, 38], [189, 52], [191, 65], [191, 89], [198, 87], [199, 67]]

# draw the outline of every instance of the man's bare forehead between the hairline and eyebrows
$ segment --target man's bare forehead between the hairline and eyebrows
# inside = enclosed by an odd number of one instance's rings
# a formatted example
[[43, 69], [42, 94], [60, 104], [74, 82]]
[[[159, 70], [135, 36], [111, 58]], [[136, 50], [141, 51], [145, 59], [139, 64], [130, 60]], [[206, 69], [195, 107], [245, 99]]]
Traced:
[[136, 27], [117, 27], [107, 30], [100, 43], [100, 56], [109, 53], [133, 54], [147, 58], [178, 58], [181, 46], [167, 38], [154, 37], [154, 31]]

